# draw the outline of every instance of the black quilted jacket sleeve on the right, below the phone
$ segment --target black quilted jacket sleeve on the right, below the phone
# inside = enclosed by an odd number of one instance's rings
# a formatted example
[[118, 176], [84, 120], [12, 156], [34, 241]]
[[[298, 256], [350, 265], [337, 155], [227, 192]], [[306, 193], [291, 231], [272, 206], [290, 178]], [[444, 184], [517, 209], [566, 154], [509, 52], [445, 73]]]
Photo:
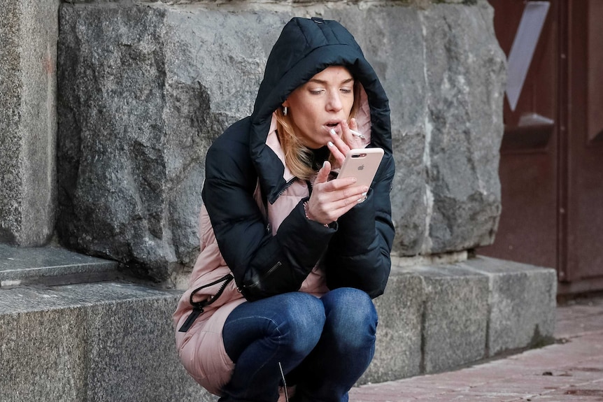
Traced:
[[355, 287], [373, 298], [383, 294], [395, 234], [390, 202], [394, 173], [390, 154], [384, 157], [367, 200], [339, 218], [325, 258], [329, 289]]

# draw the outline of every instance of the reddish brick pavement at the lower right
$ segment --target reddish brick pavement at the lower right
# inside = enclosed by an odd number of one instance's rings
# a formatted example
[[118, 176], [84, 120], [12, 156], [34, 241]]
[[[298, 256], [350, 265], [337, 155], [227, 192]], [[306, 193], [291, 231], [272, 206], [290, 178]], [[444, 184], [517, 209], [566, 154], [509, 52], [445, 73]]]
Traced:
[[363, 385], [350, 391], [350, 401], [603, 401], [603, 297], [559, 306], [555, 338], [457, 371]]

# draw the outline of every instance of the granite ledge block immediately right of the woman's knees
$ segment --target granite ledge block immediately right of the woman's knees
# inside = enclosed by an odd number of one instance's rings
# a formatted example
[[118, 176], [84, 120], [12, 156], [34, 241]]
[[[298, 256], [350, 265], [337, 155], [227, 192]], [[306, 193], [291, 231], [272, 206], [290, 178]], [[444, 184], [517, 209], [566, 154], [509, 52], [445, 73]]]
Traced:
[[420, 276], [394, 267], [385, 294], [375, 299], [379, 317], [375, 356], [359, 384], [420, 374], [423, 303]]

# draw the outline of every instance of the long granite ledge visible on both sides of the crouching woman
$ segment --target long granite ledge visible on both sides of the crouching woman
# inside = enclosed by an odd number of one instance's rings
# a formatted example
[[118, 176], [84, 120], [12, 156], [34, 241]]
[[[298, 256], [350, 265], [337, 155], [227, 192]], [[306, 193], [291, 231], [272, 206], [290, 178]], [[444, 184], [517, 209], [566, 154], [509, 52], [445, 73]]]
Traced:
[[[552, 340], [553, 269], [486, 257], [394, 262], [359, 385]], [[171, 315], [180, 294], [124, 282], [0, 289], [0, 400], [215, 401], [178, 361]]]

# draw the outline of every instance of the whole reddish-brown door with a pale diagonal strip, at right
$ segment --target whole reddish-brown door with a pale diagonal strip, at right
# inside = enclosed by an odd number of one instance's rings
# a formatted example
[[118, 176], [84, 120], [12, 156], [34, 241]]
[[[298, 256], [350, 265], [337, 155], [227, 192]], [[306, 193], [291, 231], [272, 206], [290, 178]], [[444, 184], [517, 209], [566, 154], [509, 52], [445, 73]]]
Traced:
[[478, 252], [556, 268], [560, 294], [603, 289], [603, 1], [490, 3], [510, 84], [502, 214]]

